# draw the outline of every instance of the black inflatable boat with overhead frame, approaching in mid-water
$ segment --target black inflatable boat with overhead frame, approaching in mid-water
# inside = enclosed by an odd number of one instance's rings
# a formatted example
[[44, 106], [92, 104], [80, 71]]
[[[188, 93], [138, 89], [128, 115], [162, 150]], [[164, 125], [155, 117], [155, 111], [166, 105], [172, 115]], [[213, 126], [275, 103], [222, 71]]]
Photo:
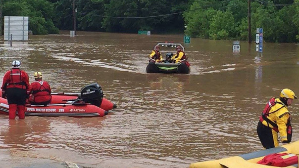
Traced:
[[[184, 51], [183, 45], [180, 43], [158, 43], [157, 46], [168, 46], [176, 47], [179, 45]], [[154, 47], [154, 48], [155, 48]], [[189, 74], [190, 73], [190, 64], [187, 62], [187, 58], [181, 60], [178, 63], [170, 63], [168, 60], [173, 56], [172, 53], [166, 53], [165, 60], [158, 62], [155, 59], [149, 58], [149, 64], [146, 68], [147, 73], [177, 73], [177, 74]]]

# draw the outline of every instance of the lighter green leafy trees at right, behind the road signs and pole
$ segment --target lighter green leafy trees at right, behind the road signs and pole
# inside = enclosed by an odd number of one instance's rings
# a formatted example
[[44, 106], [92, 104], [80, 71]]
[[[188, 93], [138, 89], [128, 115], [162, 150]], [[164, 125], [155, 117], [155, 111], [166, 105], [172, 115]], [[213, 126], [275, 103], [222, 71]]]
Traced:
[[[228, 4], [225, 3], [226, 0], [218, 3], [215, 0], [192, 1], [190, 11], [184, 13], [186, 34], [217, 40], [248, 40], [247, 1], [230, 0]], [[287, 6], [273, 3], [292, 4], [292, 0], [267, 2], [269, 3], [251, 2], [251, 39], [255, 39], [256, 28], [263, 28], [263, 40], [266, 42], [299, 42], [299, 0], [295, 0], [294, 5]], [[193, 11], [195, 8], [199, 9]], [[213, 17], [205, 17], [206, 12], [211, 9], [215, 11]]]

